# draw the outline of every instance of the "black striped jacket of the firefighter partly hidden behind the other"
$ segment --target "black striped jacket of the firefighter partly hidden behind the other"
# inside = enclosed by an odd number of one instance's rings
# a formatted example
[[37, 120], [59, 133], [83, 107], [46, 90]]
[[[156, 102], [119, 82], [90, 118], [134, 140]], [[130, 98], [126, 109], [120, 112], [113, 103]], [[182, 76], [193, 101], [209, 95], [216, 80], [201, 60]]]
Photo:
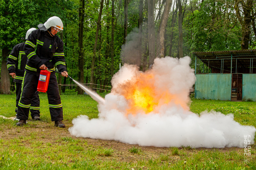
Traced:
[[24, 69], [27, 62], [27, 56], [24, 52], [24, 43], [17, 44], [11, 51], [11, 54], [7, 58], [7, 68], [9, 73], [14, 72], [16, 77], [15, 83], [22, 83], [24, 77]]

